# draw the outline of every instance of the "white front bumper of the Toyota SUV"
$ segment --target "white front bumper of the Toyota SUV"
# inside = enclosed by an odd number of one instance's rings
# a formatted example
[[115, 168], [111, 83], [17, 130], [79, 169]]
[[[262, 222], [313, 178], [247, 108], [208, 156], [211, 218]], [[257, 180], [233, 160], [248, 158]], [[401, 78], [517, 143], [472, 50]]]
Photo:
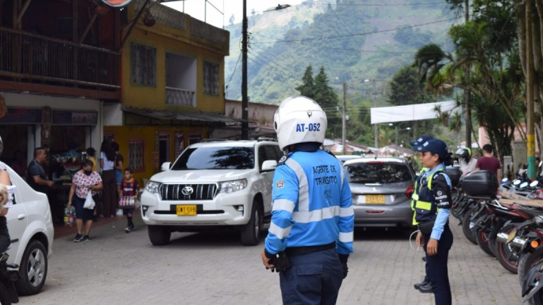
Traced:
[[[158, 194], [145, 191], [141, 201], [146, 225], [245, 225], [251, 216], [253, 195], [246, 188], [230, 194], [219, 193], [212, 201], [162, 201]], [[177, 216], [176, 205], [197, 205], [197, 215]]]

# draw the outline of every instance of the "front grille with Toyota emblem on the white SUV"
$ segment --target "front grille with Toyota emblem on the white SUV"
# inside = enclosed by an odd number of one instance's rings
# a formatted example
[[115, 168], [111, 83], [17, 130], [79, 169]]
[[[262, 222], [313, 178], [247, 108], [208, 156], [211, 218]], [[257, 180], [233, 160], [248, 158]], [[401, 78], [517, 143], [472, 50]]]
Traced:
[[212, 200], [215, 194], [217, 194], [217, 183], [160, 185], [160, 197], [165, 201]]

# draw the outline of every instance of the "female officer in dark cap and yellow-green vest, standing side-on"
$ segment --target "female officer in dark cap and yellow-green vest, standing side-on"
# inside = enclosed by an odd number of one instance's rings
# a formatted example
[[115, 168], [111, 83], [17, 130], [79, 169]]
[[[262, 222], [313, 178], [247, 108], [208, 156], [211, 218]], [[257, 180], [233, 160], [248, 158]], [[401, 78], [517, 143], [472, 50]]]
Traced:
[[450, 161], [447, 145], [440, 139], [428, 139], [415, 148], [423, 167], [428, 168], [415, 203], [415, 221], [419, 225], [417, 245], [423, 246], [434, 289], [436, 305], [452, 304], [447, 258], [452, 246], [448, 218], [451, 207], [451, 182], [445, 173]]

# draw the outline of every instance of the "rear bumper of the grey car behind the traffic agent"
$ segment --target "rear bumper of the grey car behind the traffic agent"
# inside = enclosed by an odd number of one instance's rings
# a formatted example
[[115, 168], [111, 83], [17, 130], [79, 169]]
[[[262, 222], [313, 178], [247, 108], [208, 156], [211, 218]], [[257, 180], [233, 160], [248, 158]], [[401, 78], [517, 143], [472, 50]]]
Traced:
[[411, 201], [395, 205], [353, 204], [355, 227], [412, 227]]

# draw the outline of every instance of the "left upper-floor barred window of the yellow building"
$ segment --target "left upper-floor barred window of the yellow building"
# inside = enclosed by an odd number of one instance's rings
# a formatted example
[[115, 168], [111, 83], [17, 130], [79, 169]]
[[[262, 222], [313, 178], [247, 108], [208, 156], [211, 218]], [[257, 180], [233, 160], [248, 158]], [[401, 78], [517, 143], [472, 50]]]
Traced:
[[131, 79], [134, 84], [157, 86], [157, 49], [131, 44]]

